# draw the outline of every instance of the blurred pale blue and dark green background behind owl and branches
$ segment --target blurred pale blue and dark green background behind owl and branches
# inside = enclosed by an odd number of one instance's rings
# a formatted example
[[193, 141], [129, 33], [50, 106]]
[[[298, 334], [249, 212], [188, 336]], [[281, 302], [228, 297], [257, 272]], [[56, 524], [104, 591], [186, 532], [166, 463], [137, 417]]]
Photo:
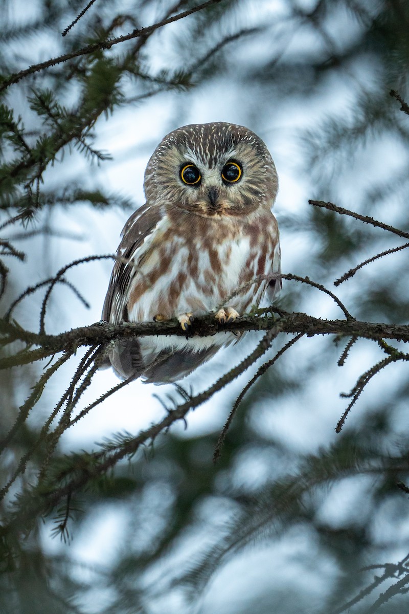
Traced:
[[[97, 0], [61, 37], [85, 2], [2, 0], [0, 74], [6, 79], [197, 4]], [[409, 117], [389, 95], [394, 89], [409, 98], [408, 32], [405, 0], [221, 0], [2, 91], [13, 120], [3, 108], [1, 221], [32, 212], [29, 221], [2, 228], [25, 253], [23, 261], [4, 257], [2, 314], [28, 286], [73, 260], [116, 251], [124, 222], [144, 202], [143, 171], [165, 134], [226, 121], [256, 132], [275, 160], [283, 272], [323, 284], [357, 319], [406, 323], [405, 250], [333, 285], [403, 239], [308, 199], [408, 229]], [[67, 272], [88, 308], [59, 284], [48, 333], [99, 321], [111, 268], [110, 260], [96, 260]], [[37, 330], [44, 292], [13, 309], [22, 327]], [[296, 282], [285, 282], [278, 306], [343, 317], [331, 298]], [[204, 390], [259, 338], [251, 333], [219, 352], [183, 387]], [[268, 357], [288, 340], [279, 336]], [[189, 413], [186, 428], [174, 425], [75, 496], [63, 539], [55, 529], [64, 505], [32, 518], [30, 530], [15, 523], [44, 462], [39, 448], [0, 507], [0, 612], [408, 612], [409, 501], [396, 486], [409, 468], [407, 369], [381, 370], [337, 435], [349, 403], [340, 393], [384, 357], [377, 343], [358, 340], [338, 367], [347, 341], [302, 338], [289, 349], [245, 396], [214, 465], [234, 400], [264, 361], [253, 365]], [[2, 434], [43, 368], [0, 371]], [[74, 370], [67, 362], [50, 379], [0, 457], [2, 483]], [[111, 371], [97, 373], [77, 412], [116, 383]], [[55, 463], [149, 427], [164, 415], [168, 395], [180, 402], [174, 386], [136, 381], [121, 389], [64, 432]]]

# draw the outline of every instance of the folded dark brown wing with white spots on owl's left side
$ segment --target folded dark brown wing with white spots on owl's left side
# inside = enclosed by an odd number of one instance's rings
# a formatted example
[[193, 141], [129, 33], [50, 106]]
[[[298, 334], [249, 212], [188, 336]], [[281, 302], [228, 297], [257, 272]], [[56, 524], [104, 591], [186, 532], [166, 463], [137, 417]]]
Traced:
[[118, 324], [122, 320], [128, 321], [126, 290], [135, 273], [132, 261], [139, 247], [153, 233], [161, 219], [161, 207], [144, 204], [129, 217], [128, 222], [124, 225], [117, 251], [117, 256], [123, 259], [116, 260], [113, 265], [108, 292], [102, 308], [102, 320], [105, 322]]

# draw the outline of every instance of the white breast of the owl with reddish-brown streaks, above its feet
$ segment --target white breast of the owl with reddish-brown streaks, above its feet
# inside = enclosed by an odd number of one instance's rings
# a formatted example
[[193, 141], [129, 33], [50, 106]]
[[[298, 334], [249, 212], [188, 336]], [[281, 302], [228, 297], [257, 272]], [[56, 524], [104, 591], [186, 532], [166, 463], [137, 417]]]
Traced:
[[129, 320], [200, 316], [227, 305], [244, 313], [261, 300], [267, 282], [254, 280], [271, 272], [274, 247], [265, 223], [177, 229], [163, 223], [135, 258]]

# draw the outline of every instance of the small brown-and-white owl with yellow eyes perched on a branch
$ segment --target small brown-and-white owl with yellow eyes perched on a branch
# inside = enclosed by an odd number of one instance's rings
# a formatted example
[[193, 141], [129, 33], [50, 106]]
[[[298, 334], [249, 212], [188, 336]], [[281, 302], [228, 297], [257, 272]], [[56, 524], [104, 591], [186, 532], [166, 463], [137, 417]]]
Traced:
[[222, 346], [238, 340], [229, 324], [267, 290], [256, 279], [280, 273], [275, 165], [251, 130], [231, 123], [193, 124], [167, 134], [145, 171], [146, 204], [126, 222], [102, 319], [162, 322], [188, 331], [213, 314], [220, 332], [208, 337], [118, 340], [109, 359], [123, 379], [177, 381]]

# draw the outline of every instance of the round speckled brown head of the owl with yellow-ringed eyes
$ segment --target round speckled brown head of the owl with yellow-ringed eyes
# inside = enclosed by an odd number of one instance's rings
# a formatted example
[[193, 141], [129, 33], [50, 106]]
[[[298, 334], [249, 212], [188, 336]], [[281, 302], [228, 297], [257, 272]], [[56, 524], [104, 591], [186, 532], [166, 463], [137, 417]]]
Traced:
[[270, 209], [275, 166], [264, 142], [244, 126], [182, 126], [165, 136], [145, 171], [148, 203], [170, 203], [201, 216], [247, 215]]

